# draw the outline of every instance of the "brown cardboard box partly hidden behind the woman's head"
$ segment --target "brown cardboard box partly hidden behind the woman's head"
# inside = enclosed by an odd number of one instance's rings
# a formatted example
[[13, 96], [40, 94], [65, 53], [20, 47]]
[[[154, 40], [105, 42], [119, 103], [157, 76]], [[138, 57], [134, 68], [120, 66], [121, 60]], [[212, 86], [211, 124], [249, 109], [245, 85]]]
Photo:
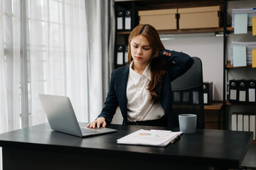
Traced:
[[177, 29], [176, 13], [176, 8], [139, 11], [139, 23], [148, 23], [156, 30], [174, 30]]

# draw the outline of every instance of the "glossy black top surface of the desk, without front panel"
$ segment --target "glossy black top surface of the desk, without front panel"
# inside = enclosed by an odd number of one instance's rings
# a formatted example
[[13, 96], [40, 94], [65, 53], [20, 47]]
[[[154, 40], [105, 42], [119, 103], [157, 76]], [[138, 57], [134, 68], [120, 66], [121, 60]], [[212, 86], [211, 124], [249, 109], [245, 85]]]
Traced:
[[[0, 135], [0, 147], [50, 149], [51, 151], [82, 152], [126, 159], [145, 159], [196, 166], [238, 168], [252, 142], [252, 132], [228, 130], [196, 130], [183, 134], [181, 140], [167, 147], [117, 145], [116, 141], [139, 129], [164, 129], [136, 125], [109, 125], [117, 132], [80, 138], [50, 130], [48, 123], [15, 130]], [[4, 157], [4, 155], [3, 155]]]

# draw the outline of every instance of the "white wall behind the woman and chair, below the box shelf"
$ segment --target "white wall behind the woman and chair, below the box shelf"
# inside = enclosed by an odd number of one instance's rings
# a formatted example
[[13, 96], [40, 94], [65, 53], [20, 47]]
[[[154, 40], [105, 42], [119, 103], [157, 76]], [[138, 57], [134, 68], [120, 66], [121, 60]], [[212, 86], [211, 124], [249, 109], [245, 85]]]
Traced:
[[[161, 35], [161, 37], [164, 36]], [[166, 49], [185, 52], [191, 57], [199, 57], [203, 63], [203, 81], [213, 81], [213, 100], [223, 100], [222, 36], [215, 37], [214, 33], [175, 35], [175, 39], [162, 40], [162, 42]]]

